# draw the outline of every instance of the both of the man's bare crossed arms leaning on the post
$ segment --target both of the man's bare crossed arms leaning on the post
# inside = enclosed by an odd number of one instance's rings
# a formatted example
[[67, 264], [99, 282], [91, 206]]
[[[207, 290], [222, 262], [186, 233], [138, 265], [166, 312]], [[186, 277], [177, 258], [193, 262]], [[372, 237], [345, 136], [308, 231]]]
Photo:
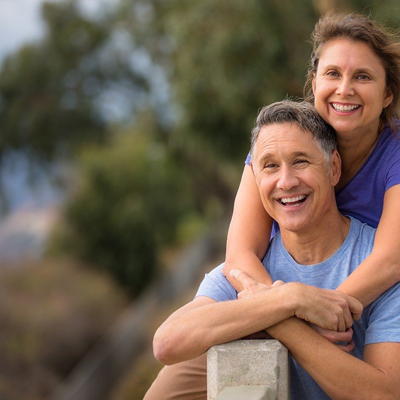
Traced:
[[216, 344], [265, 330], [289, 349], [332, 399], [400, 399], [400, 343], [366, 345], [361, 361], [304, 321], [343, 330], [360, 316], [357, 300], [296, 283], [270, 287], [239, 271], [235, 278], [244, 286], [238, 300], [217, 303], [200, 296], [160, 326], [153, 342], [160, 362], [191, 359]]

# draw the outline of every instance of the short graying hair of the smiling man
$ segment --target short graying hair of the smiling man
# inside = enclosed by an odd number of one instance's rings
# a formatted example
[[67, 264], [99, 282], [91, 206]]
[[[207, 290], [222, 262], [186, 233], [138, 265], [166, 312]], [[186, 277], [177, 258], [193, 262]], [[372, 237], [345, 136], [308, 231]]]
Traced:
[[259, 112], [251, 131], [250, 159], [254, 162], [256, 143], [261, 128], [272, 124], [295, 123], [303, 131], [310, 132], [317, 146], [322, 151], [327, 164], [332, 152], [337, 147], [333, 128], [317, 113], [307, 101], [283, 100], [265, 106]]

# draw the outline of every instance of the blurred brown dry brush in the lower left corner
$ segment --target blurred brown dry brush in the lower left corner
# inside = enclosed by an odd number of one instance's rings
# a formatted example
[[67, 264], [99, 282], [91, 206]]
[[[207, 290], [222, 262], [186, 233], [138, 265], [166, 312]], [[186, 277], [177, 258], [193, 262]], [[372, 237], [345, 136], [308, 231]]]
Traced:
[[0, 398], [44, 399], [127, 304], [107, 276], [74, 261], [3, 267]]

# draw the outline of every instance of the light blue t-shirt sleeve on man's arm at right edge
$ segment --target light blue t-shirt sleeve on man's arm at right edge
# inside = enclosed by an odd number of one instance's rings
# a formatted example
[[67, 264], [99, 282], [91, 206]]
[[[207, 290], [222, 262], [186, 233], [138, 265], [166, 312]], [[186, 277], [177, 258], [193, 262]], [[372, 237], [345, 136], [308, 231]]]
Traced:
[[400, 283], [371, 305], [365, 344], [400, 342]]

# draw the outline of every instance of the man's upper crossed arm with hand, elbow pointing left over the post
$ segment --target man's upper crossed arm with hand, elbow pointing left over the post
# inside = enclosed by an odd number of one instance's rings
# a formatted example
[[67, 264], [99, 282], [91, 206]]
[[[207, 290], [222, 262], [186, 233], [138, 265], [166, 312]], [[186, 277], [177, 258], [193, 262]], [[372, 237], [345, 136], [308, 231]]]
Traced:
[[258, 284], [244, 272], [235, 278], [246, 288], [245, 298], [217, 303], [199, 296], [158, 328], [153, 351], [160, 362], [168, 365], [200, 356], [211, 346], [261, 331], [293, 315], [313, 323], [331, 320], [345, 326], [352, 320], [349, 308], [357, 318], [362, 311], [356, 299], [335, 290], [296, 283], [271, 287]]

